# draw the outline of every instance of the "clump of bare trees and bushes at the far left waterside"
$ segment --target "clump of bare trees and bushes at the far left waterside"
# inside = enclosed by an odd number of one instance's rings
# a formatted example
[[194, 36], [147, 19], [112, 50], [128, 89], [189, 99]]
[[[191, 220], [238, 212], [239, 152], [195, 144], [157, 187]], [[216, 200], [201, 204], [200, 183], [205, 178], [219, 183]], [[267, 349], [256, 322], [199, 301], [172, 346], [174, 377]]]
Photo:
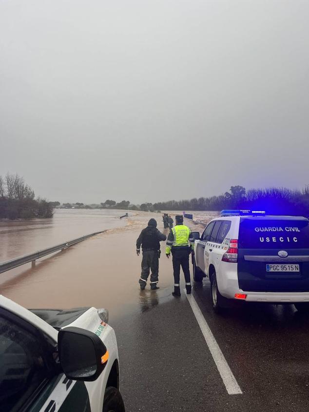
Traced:
[[52, 216], [50, 202], [35, 199], [34, 191], [22, 177], [10, 173], [0, 176], [0, 218], [13, 220]]

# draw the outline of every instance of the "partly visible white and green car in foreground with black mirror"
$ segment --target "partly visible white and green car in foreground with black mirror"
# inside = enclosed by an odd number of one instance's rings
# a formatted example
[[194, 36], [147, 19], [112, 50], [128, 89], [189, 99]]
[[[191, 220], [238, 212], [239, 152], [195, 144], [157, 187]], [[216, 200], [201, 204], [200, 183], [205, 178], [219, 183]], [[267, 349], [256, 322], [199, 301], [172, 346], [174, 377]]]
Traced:
[[124, 412], [107, 321], [103, 309], [27, 310], [0, 295], [1, 412]]

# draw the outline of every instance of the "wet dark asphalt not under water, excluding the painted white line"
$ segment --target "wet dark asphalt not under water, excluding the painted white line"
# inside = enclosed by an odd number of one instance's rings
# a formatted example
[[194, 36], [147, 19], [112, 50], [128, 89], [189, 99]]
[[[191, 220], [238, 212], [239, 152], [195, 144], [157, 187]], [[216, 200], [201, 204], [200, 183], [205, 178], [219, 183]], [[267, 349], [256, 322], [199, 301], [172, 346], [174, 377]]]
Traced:
[[195, 285], [193, 296], [243, 392], [229, 395], [185, 293], [140, 294], [140, 313], [114, 325], [128, 412], [308, 411], [308, 316], [292, 305], [265, 304], [216, 315], [209, 282]]

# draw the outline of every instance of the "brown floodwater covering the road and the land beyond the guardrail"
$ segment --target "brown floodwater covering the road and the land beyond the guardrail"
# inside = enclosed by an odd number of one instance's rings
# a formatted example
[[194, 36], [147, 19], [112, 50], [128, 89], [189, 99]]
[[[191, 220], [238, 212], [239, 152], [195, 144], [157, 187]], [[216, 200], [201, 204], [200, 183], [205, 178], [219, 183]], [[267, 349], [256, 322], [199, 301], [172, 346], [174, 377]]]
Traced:
[[[160, 289], [140, 292], [137, 283], [141, 255], [135, 252], [136, 238], [150, 217], [155, 217], [158, 229], [168, 235], [161, 215], [136, 212], [120, 220], [121, 211], [103, 211], [109, 216], [100, 214], [101, 211], [87, 212], [65, 210], [56, 213], [49, 222], [14, 222], [7, 227], [3, 224], [6, 222], [1, 222], [0, 254], [6, 259], [87, 233], [109, 230], [39, 259], [35, 268], [29, 263], [1, 274], [0, 293], [28, 308], [106, 307], [112, 321], [170, 299], [173, 270], [171, 259], [165, 257], [164, 251], [160, 258]], [[206, 214], [203, 217], [207, 219]], [[203, 226], [189, 220], [186, 224], [193, 230], [203, 230]], [[5, 246], [2, 239], [7, 242]], [[164, 247], [162, 242], [161, 250]]]

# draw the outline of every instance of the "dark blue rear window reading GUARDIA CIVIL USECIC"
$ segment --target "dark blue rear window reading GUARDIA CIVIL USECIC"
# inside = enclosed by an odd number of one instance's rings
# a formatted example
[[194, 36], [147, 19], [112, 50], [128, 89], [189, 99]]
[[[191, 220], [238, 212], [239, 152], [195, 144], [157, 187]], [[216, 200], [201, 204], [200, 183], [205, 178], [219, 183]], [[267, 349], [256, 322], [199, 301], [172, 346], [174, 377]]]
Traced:
[[238, 245], [253, 249], [309, 248], [308, 219], [240, 219]]

